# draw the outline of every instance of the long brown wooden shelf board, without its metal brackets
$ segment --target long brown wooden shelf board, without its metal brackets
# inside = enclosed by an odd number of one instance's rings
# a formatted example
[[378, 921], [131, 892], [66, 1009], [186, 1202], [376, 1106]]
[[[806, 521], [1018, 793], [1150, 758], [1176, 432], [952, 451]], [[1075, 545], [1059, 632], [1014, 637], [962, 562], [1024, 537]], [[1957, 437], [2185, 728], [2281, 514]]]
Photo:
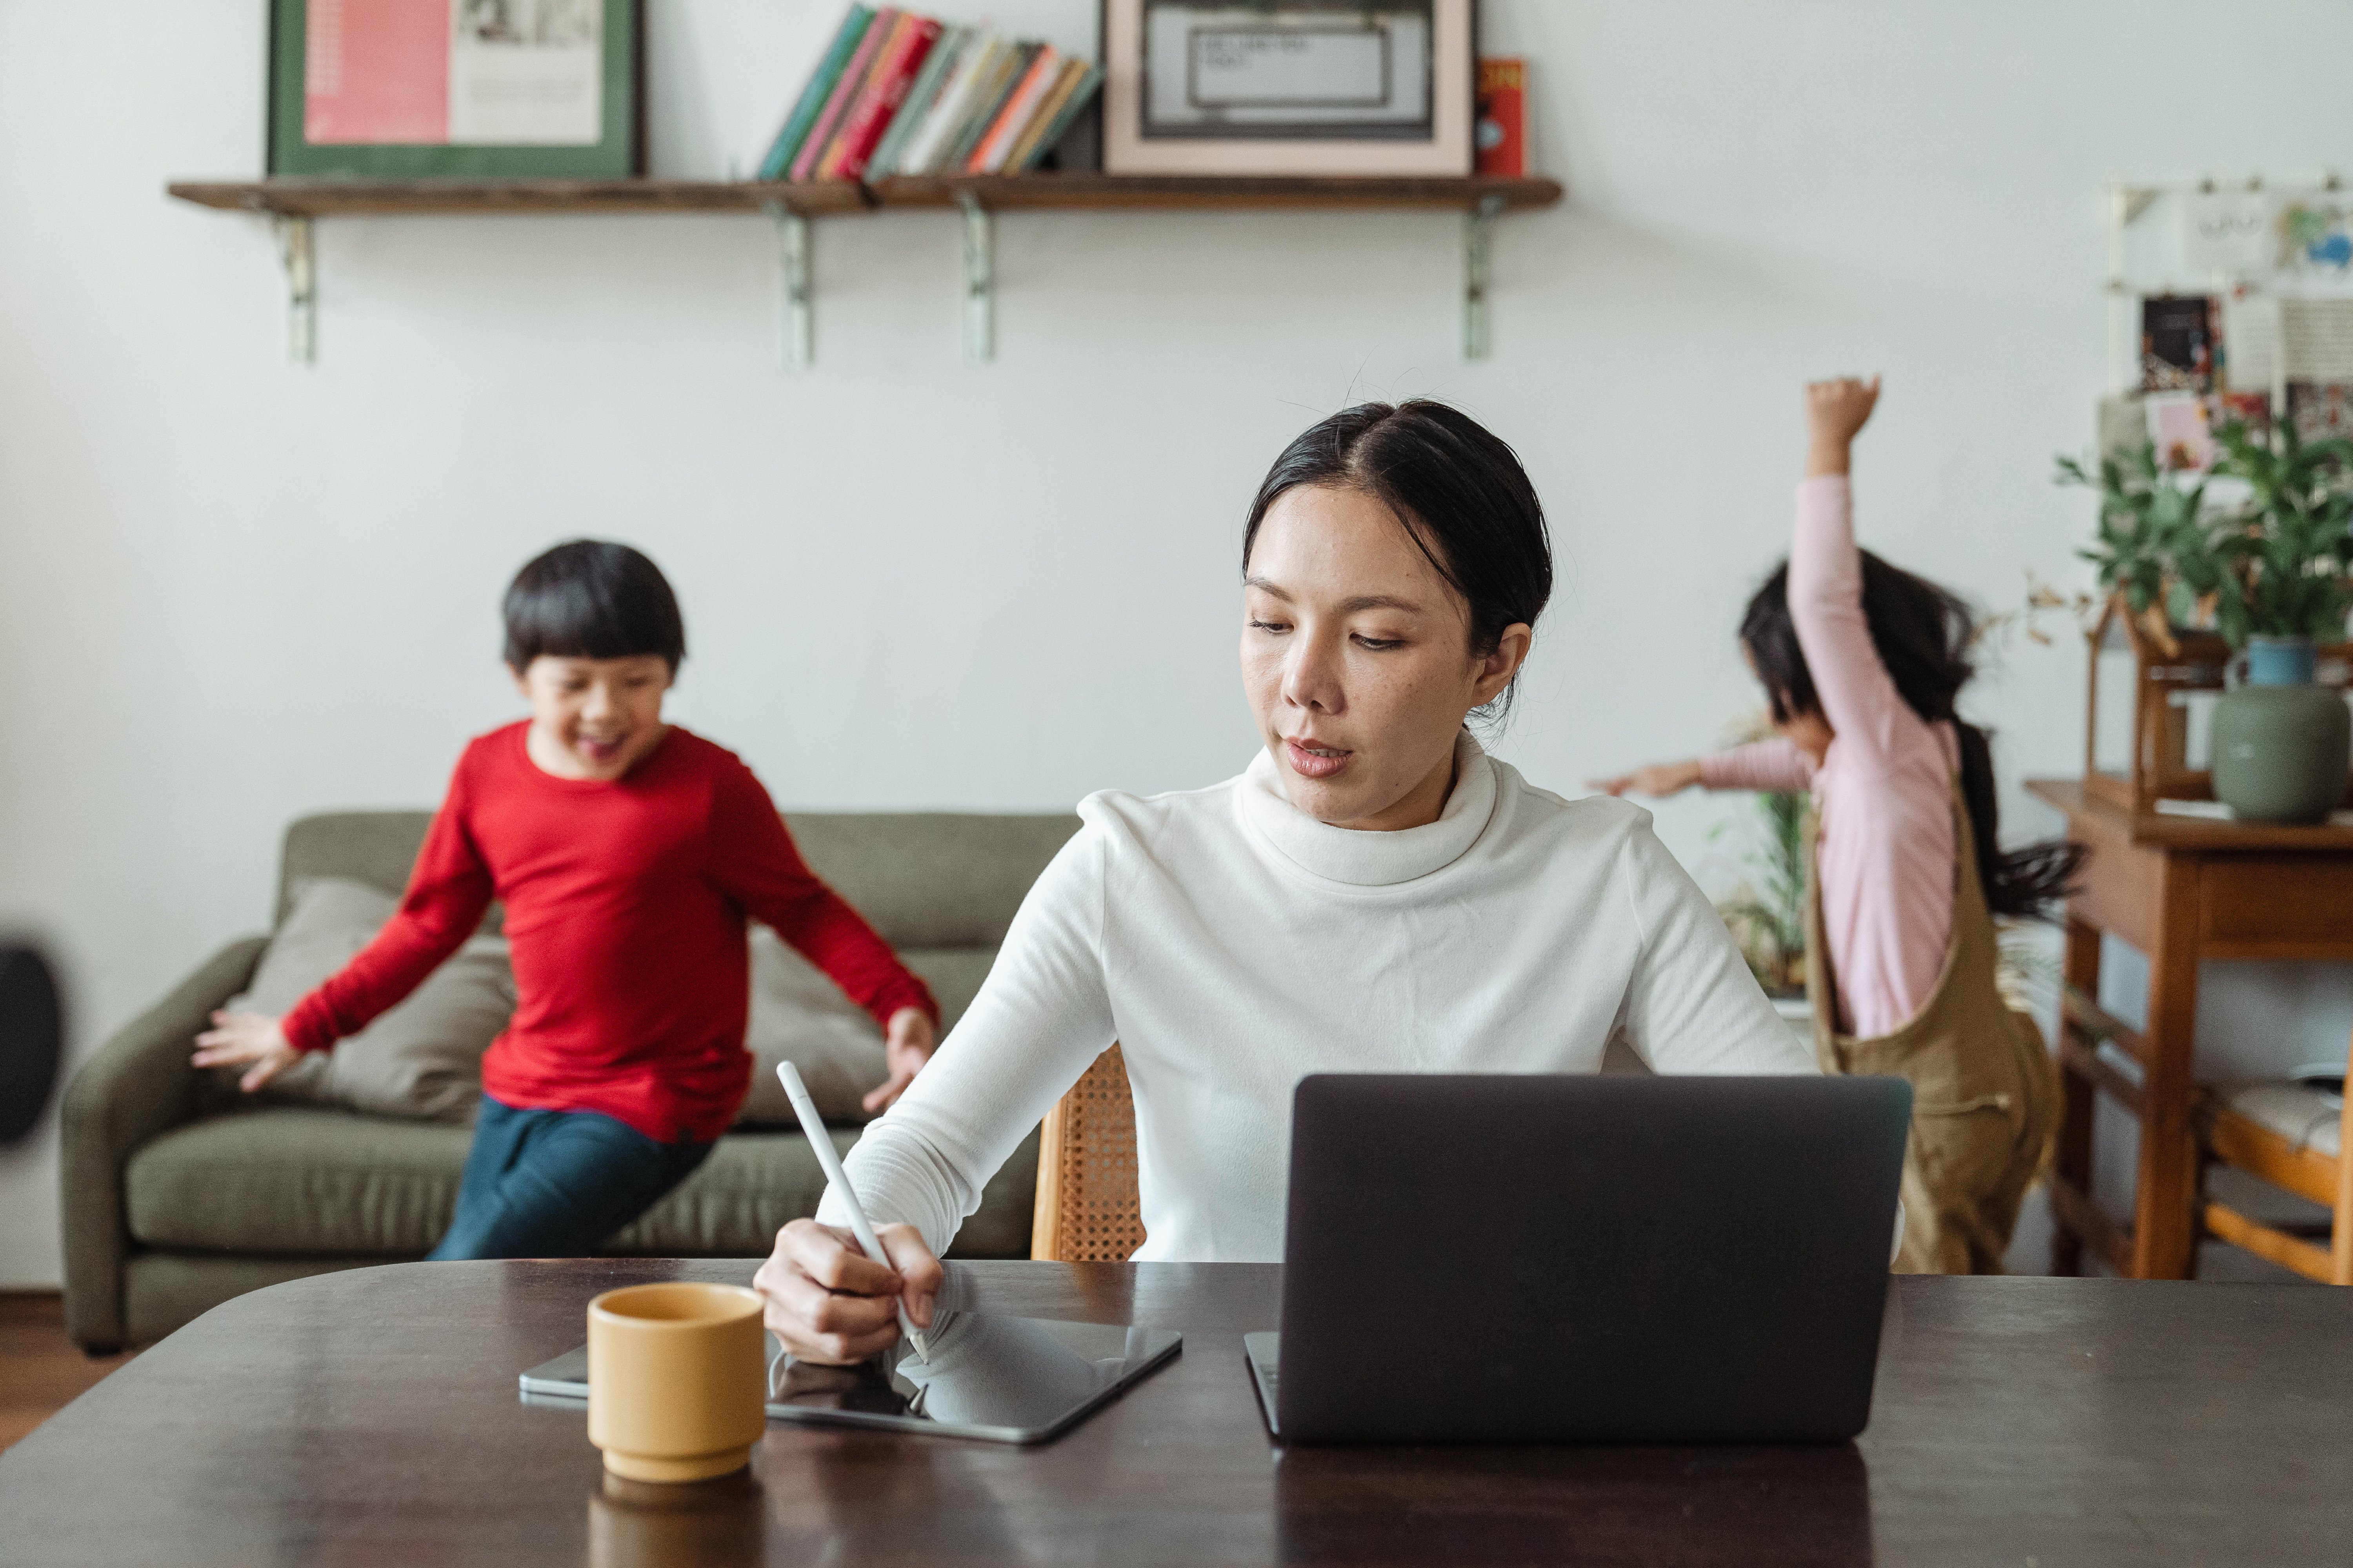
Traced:
[[1551, 207], [1551, 179], [1240, 179], [1172, 174], [958, 174], [939, 179], [856, 181], [696, 181], [696, 179], [249, 179], [179, 181], [169, 195], [224, 212], [289, 219], [339, 214], [464, 212], [765, 212], [798, 216], [873, 207], [960, 207], [974, 197], [988, 212], [1200, 212], [1200, 209], [1367, 209], [1421, 207], [1473, 212], [1487, 197], [1506, 212]]

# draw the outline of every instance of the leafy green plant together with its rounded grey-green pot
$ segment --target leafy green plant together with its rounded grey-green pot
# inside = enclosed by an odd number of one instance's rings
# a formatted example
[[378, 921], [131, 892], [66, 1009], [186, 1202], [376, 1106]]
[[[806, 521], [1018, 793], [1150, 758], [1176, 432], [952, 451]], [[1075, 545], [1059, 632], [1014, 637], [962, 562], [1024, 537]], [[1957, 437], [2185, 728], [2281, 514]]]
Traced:
[[2153, 444], [2104, 458], [2097, 477], [2059, 458], [2059, 477], [2099, 491], [2082, 557], [2155, 644], [2212, 625], [2245, 651], [2245, 679], [2214, 710], [2214, 797], [2249, 820], [2318, 823], [2353, 766], [2353, 715], [2313, 684], [2315, 644], [2341, 639], [2353, 611], [2353, 442], [2233, 421], [2217, 444], [2195, 482]]

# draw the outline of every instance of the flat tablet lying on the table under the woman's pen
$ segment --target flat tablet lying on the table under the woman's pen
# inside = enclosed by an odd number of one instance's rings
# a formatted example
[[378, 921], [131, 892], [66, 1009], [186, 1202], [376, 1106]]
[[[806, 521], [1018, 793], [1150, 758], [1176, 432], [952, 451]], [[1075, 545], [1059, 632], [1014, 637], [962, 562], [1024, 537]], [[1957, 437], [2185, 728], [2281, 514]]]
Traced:
[[[767, 1415], [988, 1443], [1042, 1443], [1165, 1366], [1184, 1335], [1167, 1328], [939, 1312], [925, 1342], [932, 1347], [929, 1359], [894, 1345], [856, 1366], [814, 1366], [793, 1361], [767, 1335]], [[522, 1373], [522, 1399], [584, 1403], [588, 1347]]]

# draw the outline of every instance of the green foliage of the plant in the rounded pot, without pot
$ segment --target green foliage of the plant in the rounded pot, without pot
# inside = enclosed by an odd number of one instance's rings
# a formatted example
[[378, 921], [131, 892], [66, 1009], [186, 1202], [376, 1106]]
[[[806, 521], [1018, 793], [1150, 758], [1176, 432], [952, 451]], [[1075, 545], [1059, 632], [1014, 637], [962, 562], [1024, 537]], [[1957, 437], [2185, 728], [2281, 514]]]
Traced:
[[[2214, 440], [2221, 456], [2195, 482], [2162, 468], [2153, 442], [2097, 470], [2059, 458], [2061, 484], [2099, 491], [2099, 531], [2080, 550], [2099, 585], [2167, 649], [2172, 628], [2205, 623], [2231, 646], [2341, 637], [2353, 611], [2353, 442], [2306, 442], [2285, 421], [2271, 435], [2231, 421]], [[2209, 501], [2212, 480], [2245, 498]]]

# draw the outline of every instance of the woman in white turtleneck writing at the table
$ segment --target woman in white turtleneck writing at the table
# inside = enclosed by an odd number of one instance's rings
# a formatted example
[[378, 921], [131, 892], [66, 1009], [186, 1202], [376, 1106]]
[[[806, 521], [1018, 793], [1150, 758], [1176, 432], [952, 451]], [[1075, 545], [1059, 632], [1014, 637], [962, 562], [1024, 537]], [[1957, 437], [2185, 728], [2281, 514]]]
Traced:
[[1337, 414], [1275, 461], [1242, 538], [1242, 689], [1264, 750], [1181, 795], [1106, 790], [988, 983], [828, 1197], [760, 1267], [809, 1361], [929, 1324], [936, 1253], [1113, 1041], [1136, 1100], [1136, 1258], [1282, 1258], [1311, 1072], [1814, 1072], [1706, 896], [1614, 799], [1565, 802], [1464, 719], [1506, 701], [1551, 595], [1518, 458], [1433, 402]]

